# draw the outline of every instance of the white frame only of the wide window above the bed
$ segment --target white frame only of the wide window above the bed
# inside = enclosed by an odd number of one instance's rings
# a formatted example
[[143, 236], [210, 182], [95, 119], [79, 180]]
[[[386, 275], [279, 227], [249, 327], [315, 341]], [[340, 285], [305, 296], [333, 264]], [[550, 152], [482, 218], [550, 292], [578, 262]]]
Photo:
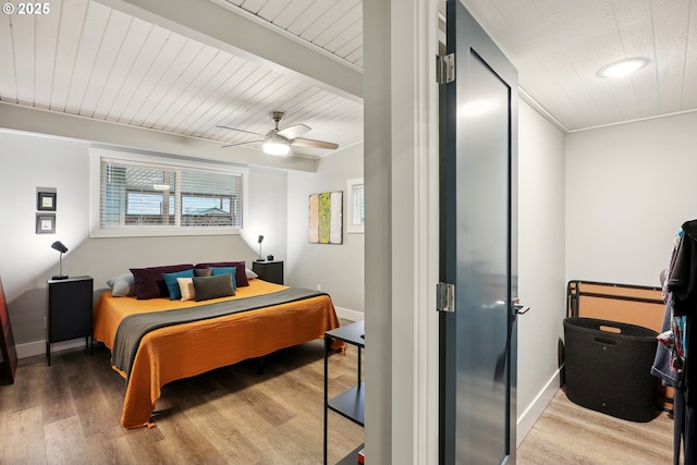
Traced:
[[[90, 148], [90, 206], [89, 206], [89, 236], [90, 237], [155, 237], [155, 236], [185, 236], [185, 235], [225, 235], [241, 234], [248, 215], [248, 179], [247, 167], [217, 163], [209, 160], [194, 160], [176, 156], [155, 156], [133, 154], [126, 151], [110, 150], [103, 148]], [[123, 163], [152, 164], [154, 167], [171, 168], [172, 170], [196, 169], [227, 172], [242, 175], [242, 227], [101, 227], [100, 218], [100, 192], [101, 192], [101, 159], [108, 158]]]

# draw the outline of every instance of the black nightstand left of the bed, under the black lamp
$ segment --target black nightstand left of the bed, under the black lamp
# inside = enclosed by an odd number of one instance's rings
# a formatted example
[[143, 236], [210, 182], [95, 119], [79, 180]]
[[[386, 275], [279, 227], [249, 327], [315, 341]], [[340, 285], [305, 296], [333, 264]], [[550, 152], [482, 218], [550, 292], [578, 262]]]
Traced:
[[46, 357], [51, 365], [51, 343], [85, 338], [91, 347], [91, 277], [48, 280], [48, 319], [46, 322]]

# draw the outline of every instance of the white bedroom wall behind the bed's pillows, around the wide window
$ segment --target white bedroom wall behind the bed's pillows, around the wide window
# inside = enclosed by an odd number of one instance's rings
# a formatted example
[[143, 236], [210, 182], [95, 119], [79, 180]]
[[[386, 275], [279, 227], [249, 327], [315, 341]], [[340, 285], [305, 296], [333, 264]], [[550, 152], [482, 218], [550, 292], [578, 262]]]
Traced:
[[[248, 231], [242, 235], [176, 237], [89, 237], [89, 146], [84, 142], [0, 132], [0, 277], [20, 356], [42, 353], [46, 280], [58, 274], [60, 240], [69, 252], [63, 273], [88, 274], [95, 289], [131, 267], [246, 260], [257, 257], [264, 231], [265, 255], [286, 256], [286, 174], [249, 170]], [[36, 187], [56, 187], [56, 234], [36, 234]]]

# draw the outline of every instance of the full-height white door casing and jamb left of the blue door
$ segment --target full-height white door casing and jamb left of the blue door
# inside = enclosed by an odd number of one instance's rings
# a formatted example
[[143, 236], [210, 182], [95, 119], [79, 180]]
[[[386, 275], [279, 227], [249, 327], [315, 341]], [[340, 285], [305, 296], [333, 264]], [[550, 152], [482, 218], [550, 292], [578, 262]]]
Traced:
[[390, 456], [438, 463], [438, 10], [429, 0], [391, 4]]

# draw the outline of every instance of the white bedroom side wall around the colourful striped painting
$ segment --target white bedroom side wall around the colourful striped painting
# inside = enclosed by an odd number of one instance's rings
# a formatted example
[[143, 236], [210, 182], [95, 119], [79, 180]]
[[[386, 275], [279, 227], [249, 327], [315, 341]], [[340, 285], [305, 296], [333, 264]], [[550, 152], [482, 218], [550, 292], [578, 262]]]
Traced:
[[[363, 178], [363, 144], [320, 159], [316, 173], [290, 172], [288, 176], [286, 284], [329, 293], [337, 313], [362, 319], [364, 313], [364, 234], [346, 233], [346, 181]], [[344, 193], [343, 244], [310, 244], [308, 199], [311, 194]], [[370, 199], [366, 199], [370, 201]]]

